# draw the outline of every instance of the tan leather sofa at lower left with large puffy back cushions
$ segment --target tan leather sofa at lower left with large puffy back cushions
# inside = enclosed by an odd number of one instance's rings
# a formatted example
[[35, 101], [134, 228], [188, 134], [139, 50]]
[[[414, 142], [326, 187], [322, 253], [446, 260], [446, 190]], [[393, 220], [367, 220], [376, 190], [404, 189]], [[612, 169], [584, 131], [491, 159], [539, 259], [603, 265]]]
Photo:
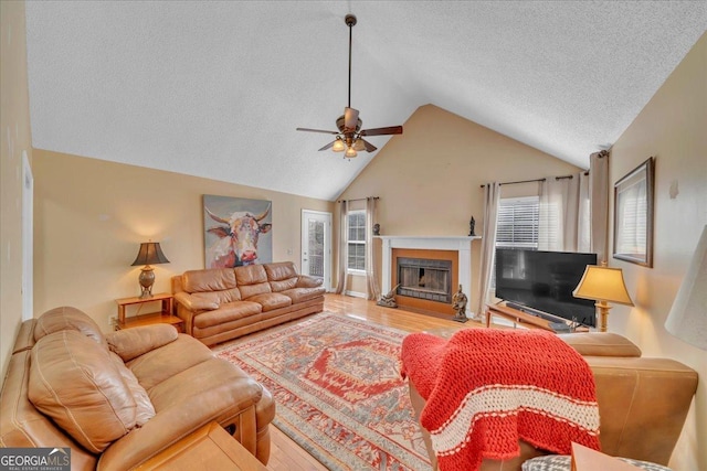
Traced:
[[70, 447], [73, 470], [126, 470], [215, 421], [261, 462], [271, 394], [171, 325], [104, 335], [75, 308], [22, 323], [0, 393], [0, 446]]

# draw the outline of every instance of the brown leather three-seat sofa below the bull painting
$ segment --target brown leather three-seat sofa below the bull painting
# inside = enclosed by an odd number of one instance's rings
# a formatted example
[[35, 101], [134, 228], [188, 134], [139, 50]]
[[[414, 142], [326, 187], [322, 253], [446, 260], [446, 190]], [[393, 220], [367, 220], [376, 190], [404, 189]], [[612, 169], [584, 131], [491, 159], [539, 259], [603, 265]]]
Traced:
[[213, 345], [324, 310], [321, 280], [295, 264], [189, 270], [172, 277], [184, 332]]

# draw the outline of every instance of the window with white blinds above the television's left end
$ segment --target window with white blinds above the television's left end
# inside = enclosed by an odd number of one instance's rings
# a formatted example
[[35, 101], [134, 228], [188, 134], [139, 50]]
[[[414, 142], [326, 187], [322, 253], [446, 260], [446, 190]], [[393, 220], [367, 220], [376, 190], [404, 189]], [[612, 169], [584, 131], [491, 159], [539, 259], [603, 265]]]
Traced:
[[540, 197], [507, 197], [498, 203], [496, 247], [538, 248]]

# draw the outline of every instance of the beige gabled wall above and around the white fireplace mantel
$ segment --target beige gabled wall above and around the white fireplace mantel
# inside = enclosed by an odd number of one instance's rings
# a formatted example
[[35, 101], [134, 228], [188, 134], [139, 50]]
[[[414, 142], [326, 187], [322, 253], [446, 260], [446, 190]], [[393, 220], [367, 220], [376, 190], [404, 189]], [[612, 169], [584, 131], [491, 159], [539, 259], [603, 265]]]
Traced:
[[[478, 235], [482, 184], [580, 171], [433, 105], [418, 108], [403, 127], [404, 133], [393, 137], [341, 194], [345, 200], [380, 196], [377, 218], [383, 235], [468, 235], [472, 215]], [[502, 188], [502, 195], [528, 194], [538, 194], [537, 183]], [[380, 240], [376, 247], [380, 260]], [[479, 248], [481, 242], [474, 242], [475, 291]], [[350, 277], [349, 286], [366, 291], [361, 277]], [[467, 296], [476, 306], [477, 293]]]

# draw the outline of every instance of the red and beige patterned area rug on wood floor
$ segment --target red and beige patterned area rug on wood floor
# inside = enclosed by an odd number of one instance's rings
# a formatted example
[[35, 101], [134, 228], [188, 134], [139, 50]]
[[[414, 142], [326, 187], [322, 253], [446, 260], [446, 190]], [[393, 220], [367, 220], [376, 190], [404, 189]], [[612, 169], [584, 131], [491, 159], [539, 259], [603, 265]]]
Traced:
[[215, 347], [267, 387], [273, 424], [330, 470], [429, 470], [400, 376], [405, 332], [324, 312]]

